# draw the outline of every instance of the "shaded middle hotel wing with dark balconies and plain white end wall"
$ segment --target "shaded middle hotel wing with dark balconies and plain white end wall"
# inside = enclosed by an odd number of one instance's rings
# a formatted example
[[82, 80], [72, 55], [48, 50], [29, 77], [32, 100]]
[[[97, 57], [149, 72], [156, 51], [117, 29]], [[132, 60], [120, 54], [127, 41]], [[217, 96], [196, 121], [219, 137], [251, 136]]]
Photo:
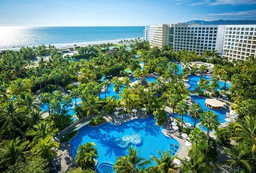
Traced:
[[223, 25], [171, 24], [168, 45], [174, 51], [195, 50], [199, 55], [205, 50], [213, 49], [222, 53], [224, 28]]

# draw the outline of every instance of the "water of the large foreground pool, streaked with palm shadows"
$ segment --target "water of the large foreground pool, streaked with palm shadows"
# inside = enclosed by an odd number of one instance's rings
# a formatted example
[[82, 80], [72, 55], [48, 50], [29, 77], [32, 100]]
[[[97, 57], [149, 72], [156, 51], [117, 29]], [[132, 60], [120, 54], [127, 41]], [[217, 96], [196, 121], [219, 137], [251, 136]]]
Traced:
[[[84, 126], [79, 129], [79, 134], [70, 141], [71, 155], [75, 158], [78, 146], [87, 142], [94, 142], [98, 151], [99, 157], [97, 169], [101, 168], [102, 163], [104, 168], [114, 164], [119, 155], [128, 154], [127, 147], [123, 148], [117, 145], [116, 139], [122, 139], [126, 135], [140, 135], [141, 143], [136, 145], [136, 149], [140, 150], [140, 156], [149, 159], [150, 155], [157, 155], [158, 150], [169, 150], [171, 155], [177, 152], [173, 147], [176, 144], [180, 147], [178, 141], [166, 137], [161, 131], [162, 126], [155, 124], [154, 116], [146, 119], [133, 119], [121, 125], [113, 125], [113, 123], [101, 124], [97, 127]], [[170, 146], [169, 144], [173, 145]], [[129, 144], [133, 145], [134, 144]], [[176, 150], [176, 151], [174, 151]]]

